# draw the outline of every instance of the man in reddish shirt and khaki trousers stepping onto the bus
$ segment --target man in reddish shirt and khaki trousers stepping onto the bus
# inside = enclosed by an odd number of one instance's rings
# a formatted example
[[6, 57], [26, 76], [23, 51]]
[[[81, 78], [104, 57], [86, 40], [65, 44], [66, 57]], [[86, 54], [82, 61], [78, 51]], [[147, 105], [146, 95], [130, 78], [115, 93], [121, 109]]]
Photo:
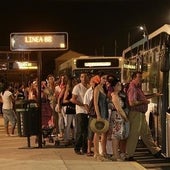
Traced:
[[145, 113], [148, 109], [148, 98], [154, 97], [159, 94], [146, 97], [141, 89], [142, 73], [135, 72], [132, 75], [132, 81], [127, 90], [128, 102], [130, 106], [129, 122], [130, 132], [127, 139], [127, 161], [134, 161], [133, 155], [137, 146], [139, 136], [142, 141], [151, 151], [155, 157], [161, 157], [161, 149], [156, 146], [151, 135], [149, 125], [147, 124]]

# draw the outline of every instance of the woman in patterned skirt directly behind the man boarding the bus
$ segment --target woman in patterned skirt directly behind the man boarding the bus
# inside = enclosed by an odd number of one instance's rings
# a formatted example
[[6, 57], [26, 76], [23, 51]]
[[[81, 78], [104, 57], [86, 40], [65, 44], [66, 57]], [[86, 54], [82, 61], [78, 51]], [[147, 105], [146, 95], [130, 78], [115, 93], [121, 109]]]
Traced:
[[120, 154], [118, 150], [120, 141], [126, 138], [126, 136], [124, 136], [125, 134], [122, 133], [122, 130], [124, 128], [124, 123], [128, 122], [128, 118], [124, 110], [124, 96], [120, 95], [122, 90], [120, 81], [116, 78], [113, 78], [110, 80], [110, 84], [113, 87], [113, 92], [111, 93], [112, 109], [109, 119], [110, 129], [108, 135], [110, 135], [112, 139], [114, 160], [120, 160]]

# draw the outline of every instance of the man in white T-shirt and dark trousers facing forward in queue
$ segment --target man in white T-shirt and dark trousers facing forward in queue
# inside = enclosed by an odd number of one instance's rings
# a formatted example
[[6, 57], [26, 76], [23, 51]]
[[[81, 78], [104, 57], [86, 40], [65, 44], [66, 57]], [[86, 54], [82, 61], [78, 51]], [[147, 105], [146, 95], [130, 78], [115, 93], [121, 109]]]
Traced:
[[84, 107], [84, 95], [89, 87], [86, 73], [80, 74], [80, 83], [74, 86], [71, 102], [76, 105], [76, 139], [74, 151], [82, 155], [87, 153], [88, 113]]

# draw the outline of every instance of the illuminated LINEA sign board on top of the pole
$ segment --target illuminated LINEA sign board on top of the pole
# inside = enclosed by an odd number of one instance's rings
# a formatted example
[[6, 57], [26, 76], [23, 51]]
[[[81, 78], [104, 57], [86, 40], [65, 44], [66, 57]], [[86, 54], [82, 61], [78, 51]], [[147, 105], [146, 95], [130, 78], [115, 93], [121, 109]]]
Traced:
[[66, 32], [11, 33], [12, 51], [56, 51], [68, 49]]

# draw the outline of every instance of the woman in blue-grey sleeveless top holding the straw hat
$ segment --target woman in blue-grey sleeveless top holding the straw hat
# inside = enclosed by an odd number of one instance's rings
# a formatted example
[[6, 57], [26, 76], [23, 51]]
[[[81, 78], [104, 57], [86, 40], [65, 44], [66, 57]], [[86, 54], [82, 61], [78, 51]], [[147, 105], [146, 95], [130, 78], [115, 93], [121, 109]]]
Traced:
[[[107, 75], [100, 74], [100, 83], [94, 89], [94, 108], [97, 119], [108, 119], [108, 103], [107, 103], [107, 91], [106, 91]], [[99, 154], [99, 137], [98, 133], [94, 134], [94, 158], [104, 161], [106, 159], [106, 133], [101, 134], [101, 148], [102, 153]]]

